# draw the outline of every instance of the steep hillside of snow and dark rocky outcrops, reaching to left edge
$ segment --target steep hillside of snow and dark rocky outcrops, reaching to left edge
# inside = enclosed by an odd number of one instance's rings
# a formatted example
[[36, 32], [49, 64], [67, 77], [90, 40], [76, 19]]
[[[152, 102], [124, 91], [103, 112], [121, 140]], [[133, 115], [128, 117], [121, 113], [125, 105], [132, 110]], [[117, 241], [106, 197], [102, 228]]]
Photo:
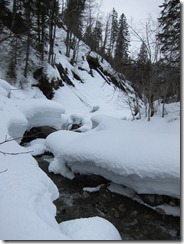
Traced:
[[[71, 64], [70, 58], [65, 56], [66, 46], [64, 40], [66, 31], [57, 28], [55, 40], [55, 66], [48, 63], [40, 66], [39, 60], [35, 59], [34, 50], [31, 59], [34, 60], [32, 74], [25, 81], [23, 78], [24, 63], [18, 63], [17, 79], [10, 83], [17, 87], [25, 88], [38, 86], [47, 98], [63, 104], [68, 112], [90, 112], [98, 109], [106, 114], [121, 118], [131, 118], [135, 113], [137, 103], [143, 105], [141, 100], [131, 87], [130, 82], [124, 80], [123, 75], [118, 74], [105, 60], [100, 62], [101, 57], [91, 52], [90, 48], [81, 41], [77, 63]], [[7, 49], [10, 48], [7, 46]], [[7, 51], [7, 50], [6, 50]], [[2, 56], [5, 52], [2, 51]], [[6, 76], [7, 66], [4, 59], [1, 62], [1, 78]], [[73, 105], [72, 105], [73, 104]], [[72, 106], [71, 106], [72, 105]], [[132, 111], [131, 111], [132, 109]]]

